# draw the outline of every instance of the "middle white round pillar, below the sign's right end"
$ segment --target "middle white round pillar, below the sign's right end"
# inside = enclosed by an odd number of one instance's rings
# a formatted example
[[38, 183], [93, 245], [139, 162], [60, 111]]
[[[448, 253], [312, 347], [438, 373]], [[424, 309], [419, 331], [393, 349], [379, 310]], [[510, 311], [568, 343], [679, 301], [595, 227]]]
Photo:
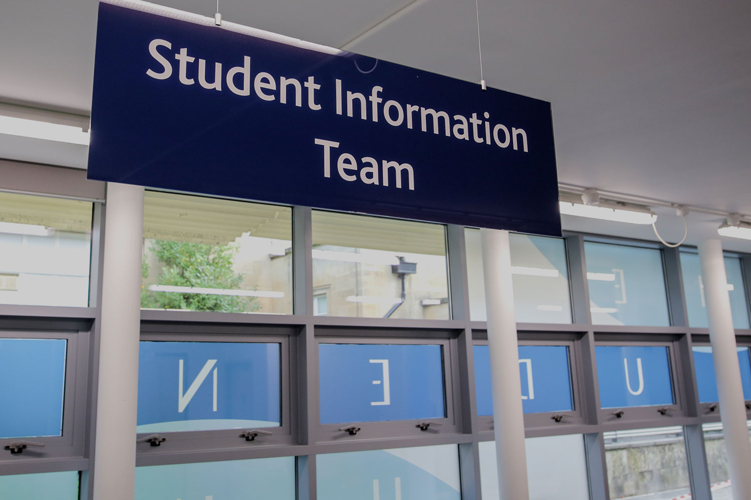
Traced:
[[508, 231], [482, 229], [487, 343], [501, 500], [528, 500], [519, 346]]

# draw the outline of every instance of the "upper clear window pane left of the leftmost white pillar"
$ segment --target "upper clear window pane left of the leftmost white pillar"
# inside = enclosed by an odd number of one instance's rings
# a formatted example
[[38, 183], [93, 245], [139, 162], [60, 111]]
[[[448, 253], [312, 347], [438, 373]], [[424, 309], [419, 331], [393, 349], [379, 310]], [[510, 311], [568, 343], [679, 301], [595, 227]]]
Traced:
[[0, 193], [0, 304], [89, 305], [92, 203]]

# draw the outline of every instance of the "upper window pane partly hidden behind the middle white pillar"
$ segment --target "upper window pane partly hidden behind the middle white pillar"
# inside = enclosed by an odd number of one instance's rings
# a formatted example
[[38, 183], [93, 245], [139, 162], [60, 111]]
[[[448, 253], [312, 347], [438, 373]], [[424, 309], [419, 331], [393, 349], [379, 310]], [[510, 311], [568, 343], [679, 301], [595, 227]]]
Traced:
[[[511, 274], [517, 322], [570, 323], [569, 269], [561, 238], [511, 233]], [[480, 231], [465, 229], [469, 315], [486, 321]]]

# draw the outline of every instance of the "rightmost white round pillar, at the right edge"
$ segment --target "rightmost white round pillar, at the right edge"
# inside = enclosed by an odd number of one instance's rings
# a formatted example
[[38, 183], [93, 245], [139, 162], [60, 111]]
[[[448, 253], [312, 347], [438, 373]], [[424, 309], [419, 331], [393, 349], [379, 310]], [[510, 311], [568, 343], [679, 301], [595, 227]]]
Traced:
[[702, 241], [699, 244], [699, 258], [733, 499], [748, 500], [751, 499], [751, 445], [730, 311], [728, 277], [719, 239]]

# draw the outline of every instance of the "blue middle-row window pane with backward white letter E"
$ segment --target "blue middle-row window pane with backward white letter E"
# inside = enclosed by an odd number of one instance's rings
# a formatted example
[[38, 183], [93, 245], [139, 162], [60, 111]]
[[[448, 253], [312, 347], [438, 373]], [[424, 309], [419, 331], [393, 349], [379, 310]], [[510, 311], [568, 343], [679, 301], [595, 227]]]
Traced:
[[441, 346], [321, 344], [318, 359], [321, 424], [446, 416]]

